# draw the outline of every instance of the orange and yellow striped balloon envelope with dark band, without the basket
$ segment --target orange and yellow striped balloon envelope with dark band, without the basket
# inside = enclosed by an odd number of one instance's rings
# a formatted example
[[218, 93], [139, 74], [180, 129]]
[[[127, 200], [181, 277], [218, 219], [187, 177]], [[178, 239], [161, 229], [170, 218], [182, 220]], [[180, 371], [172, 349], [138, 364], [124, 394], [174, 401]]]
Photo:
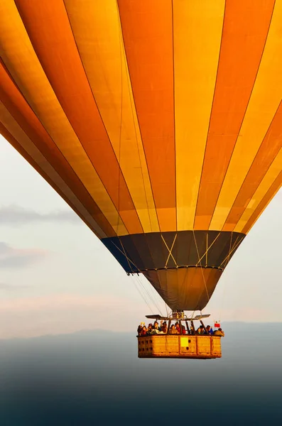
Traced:
[[282, 182], [282, 1], [2, 0], [0, 131], [173, 312]]

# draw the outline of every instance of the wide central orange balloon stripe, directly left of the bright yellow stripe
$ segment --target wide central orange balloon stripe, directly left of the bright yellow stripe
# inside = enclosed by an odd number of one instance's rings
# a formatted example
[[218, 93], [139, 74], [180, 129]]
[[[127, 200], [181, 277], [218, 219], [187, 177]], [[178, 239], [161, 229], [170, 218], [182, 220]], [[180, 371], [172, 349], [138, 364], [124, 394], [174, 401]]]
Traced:
[[170, 0], [118, 1], [136, 112], [161, 231], [176, 229]]

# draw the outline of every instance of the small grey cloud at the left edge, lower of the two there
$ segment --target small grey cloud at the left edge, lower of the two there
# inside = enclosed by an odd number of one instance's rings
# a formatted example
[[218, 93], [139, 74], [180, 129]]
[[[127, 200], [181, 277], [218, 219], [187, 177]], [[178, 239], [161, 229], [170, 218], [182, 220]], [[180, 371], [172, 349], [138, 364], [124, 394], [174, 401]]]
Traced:
[[40, 249], [15, 249], [0, 241], [0, 268], [22, 268], [40, 261], [47, 252]]

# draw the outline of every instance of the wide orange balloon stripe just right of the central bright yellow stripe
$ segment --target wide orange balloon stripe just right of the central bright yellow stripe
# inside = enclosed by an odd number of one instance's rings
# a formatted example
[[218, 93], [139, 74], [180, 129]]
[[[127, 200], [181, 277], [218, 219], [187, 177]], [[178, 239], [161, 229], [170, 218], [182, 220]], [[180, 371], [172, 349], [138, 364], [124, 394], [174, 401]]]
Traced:
[[208, 229], [239, 135], [269, 31], [274, 1], [227, 1], [195, 229]]

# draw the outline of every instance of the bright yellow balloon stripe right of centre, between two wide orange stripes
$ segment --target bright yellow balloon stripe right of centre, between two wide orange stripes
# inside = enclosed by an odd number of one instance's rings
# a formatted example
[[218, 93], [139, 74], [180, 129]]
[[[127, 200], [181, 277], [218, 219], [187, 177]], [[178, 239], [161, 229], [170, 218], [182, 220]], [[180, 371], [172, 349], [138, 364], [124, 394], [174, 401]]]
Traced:
[[177, 229], [192, 229], [222, 37], [224, 0], [173, 1]]

